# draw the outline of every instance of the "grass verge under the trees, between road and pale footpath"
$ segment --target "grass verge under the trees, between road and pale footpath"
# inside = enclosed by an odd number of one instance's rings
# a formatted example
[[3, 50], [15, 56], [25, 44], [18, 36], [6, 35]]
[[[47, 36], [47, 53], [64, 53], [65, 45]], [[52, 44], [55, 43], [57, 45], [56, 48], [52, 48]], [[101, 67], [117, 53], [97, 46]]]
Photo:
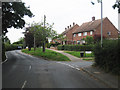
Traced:
[[41, 48], [36, 48], [36, 51], [34, 52], [34, 49], [32, 48], [31, 51], [28, 51], [28, 49], [23, 49], [22, 52], [31, 54], [33, 56], [42, 57], [47, 60], [53, 60], [53, 61], [70, 61], [70, 59], [67, 56], [64, 56], [61, 53], [48, 50], [46, 49], [45, 52], [42, 52]]

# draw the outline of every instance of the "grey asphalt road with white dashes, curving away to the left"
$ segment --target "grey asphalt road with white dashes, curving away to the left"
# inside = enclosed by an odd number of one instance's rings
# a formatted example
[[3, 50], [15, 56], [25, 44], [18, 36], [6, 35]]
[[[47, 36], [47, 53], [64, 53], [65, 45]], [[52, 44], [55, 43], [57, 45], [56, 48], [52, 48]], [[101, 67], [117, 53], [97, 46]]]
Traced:
[[47, 61], [20, 50], [9, 51], [7, 56], [2, 65], [3, 88], [107, 88], [73, 62]]

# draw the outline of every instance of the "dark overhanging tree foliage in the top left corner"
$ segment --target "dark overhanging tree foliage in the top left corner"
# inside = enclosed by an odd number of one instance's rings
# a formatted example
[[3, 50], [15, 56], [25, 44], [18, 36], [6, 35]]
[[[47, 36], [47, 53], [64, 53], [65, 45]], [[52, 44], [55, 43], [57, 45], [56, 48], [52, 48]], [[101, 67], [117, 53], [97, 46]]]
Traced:
[[5, 35], [7, 28], [23, 28], [25, 25], [24, 16], [32, 17], [29, 7], [22, 2], [2, 2], [2, 33]]

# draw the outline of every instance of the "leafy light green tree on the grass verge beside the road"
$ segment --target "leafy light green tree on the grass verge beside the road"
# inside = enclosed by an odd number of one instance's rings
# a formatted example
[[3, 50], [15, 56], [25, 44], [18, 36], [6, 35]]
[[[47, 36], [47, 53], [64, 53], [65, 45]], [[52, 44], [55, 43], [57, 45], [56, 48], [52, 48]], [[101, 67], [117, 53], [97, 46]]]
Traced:
[[[52, 29], [53, 24], [46, 24], [43, 26], [43, 23], [32, 23], [29, 27], [29, 32], [33, 35], [34, 50], [36, 45], [39, 46], [47, 41], [47, 37], [53, 38], [56, 35], [56, 31]], [[43, 46], [43, 48], [45, 48]], [[44, 51], [43, 51], [44, 52]]]

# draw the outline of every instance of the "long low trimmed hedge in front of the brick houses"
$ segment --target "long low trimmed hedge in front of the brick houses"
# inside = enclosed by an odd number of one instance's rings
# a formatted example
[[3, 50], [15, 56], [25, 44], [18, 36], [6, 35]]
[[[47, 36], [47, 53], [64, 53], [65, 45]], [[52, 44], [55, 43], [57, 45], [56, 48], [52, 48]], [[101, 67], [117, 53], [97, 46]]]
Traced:
[[93, 45], [59, 45], [57, 49], [67, 51], [92, 51]]

